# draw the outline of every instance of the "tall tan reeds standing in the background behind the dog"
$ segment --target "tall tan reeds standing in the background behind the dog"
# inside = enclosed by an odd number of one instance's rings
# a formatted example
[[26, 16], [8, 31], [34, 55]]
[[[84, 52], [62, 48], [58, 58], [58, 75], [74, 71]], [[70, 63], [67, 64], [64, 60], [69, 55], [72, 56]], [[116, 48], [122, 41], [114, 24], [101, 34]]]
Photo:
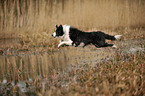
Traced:
[[140, 27], [145, 24], [144, 5], [144, 0], [2, 0], [0, 33], [52, 33], [55, 24], [84, 30]]

